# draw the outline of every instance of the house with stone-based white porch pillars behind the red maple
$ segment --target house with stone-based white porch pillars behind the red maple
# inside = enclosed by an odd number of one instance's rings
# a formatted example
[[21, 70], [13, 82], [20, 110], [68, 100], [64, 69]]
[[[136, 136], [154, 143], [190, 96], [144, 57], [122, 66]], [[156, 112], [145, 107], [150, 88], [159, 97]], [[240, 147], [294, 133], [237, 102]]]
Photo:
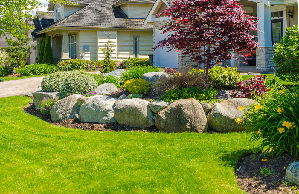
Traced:
[[[144, 25], [153, 25], [153, 47], [160, 40], [167, 38], [169, 33], [162, 34], [159, 30], [161, 26], [170, 21], [167, 17], [157, 17], [167, 7], [172, 6], [174, 0], [156, 0], [149, 11]], [[262, 49], [256, 50], [256, 69], [260, 71], [269, 70], [274, 66], [272, 58], [274, 56], [274, 44], [279, 42], [284, 36], [284, 29], [298, 24], [297, 0], [241, 0], [239, 3], [246, 10], [248, 15], [256, 16], [260, 19], [258, 27], [263, 32], [252, 32], [257, 35], [257, 41]], [[198, 66], [190, 61], [190, 57], [181, 55], [180, 52], [167, 52], [166, 48], [158, 48], [154, 52], [153, 63], [161, 67], [180, 68], [184, 65]], [[245, 66], [239, 60], [232, 59], [226, 61], [224, 66]]]

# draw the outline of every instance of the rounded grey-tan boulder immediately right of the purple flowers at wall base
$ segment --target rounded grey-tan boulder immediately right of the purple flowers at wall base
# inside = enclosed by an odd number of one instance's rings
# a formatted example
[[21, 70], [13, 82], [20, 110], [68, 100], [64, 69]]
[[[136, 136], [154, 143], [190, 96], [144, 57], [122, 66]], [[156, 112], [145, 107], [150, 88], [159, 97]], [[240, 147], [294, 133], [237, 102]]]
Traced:
[[54, 122], [61, 122], [66, 119], [72, 119], [79, 113], [80, 106], [77, 99], [81, 94], [73, 94], [58, 100], [50, 110], [51, 119]]

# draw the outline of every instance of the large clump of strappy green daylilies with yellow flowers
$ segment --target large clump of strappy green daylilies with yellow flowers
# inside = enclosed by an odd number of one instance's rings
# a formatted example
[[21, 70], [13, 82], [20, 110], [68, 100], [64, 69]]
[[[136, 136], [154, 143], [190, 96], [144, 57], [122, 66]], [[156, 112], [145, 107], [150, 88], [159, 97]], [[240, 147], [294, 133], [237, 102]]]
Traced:
[[290, 91], [271, 90], [254, 96], [256, 104], [250, 105], [244, 115], [236, 119], [251, 136], [251, 141], [259, 144], [255, 153], [265, 150], [270, 155], [279, 156], [284, 152], [298, 156], [299, 153], [299, 86]]

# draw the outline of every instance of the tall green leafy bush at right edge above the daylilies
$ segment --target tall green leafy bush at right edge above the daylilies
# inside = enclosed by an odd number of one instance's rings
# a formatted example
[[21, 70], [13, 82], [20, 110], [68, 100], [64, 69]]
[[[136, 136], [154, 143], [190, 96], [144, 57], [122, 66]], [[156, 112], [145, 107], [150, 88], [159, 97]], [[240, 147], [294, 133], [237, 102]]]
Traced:
[[286, 28], [286, 35], [274, 46], [273, 62], [280, 67], [277, 76], [282, 80], [299, 81], [298, 25]]

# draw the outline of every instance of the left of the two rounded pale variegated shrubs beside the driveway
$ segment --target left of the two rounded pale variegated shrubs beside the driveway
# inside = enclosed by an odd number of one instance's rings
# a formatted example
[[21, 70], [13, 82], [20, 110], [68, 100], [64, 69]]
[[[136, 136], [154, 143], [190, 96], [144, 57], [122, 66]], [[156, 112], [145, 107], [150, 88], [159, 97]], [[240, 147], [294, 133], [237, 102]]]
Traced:
[[68, 72], [55, 72], [42, 78], [42, 90], [59, 92]]

